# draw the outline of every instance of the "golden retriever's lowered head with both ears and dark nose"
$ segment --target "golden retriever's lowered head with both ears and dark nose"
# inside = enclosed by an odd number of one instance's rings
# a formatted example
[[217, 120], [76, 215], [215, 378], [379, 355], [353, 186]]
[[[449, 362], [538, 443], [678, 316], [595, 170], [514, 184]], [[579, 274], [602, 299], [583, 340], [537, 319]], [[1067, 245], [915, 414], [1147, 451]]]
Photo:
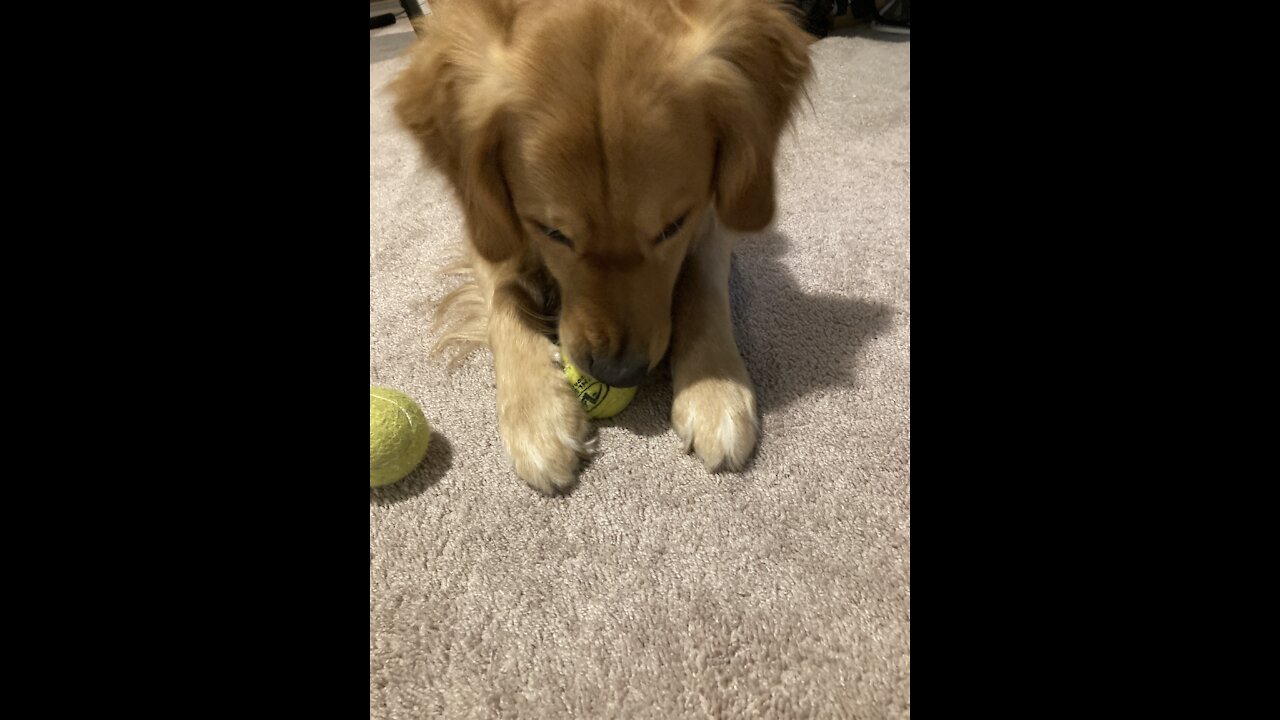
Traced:
[[545, 266], [559, 336], [634, 386], [712, 204], [773, 218], [773, 158], [808, 37], [767, 0], [435, 1], [396, 110], [461, 200], [476, 252]]

